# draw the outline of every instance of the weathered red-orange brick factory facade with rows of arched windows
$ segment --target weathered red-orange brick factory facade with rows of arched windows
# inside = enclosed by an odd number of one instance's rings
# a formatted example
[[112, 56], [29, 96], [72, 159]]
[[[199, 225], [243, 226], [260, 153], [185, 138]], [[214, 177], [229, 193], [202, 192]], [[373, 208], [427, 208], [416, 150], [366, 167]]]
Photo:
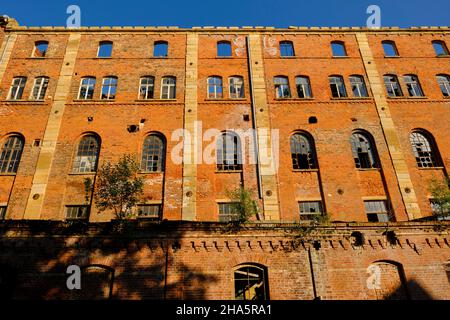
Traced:
[[[17, 280], [5, 292], [67, 297], [63, 267], [79, 264], [101, 265], [92, 292], [115, 298], [450, 298], [448, 222], [418, 222], [433, 215], [430, 181], [450, 166], [448, 27], [9, 19], [0, 31], [0, 263]], [[214, 138], [205, 133], [250, 129], [257, 148], [241, 137], [233, 156], [256, 149], [258, 163], [201, 156]], [[114, 216], [86, 201], [85, 178], [126, 153], [143, 168], [141, 208], [168, 227], [99, 231]], [[240, 185], [259, 221], [223, 232], [227, 190]], [[62, 231], [74, 213], [92, 223], [84, 236]], [[318, 213], [332, 223], [300, 227]], [[55, 235], [42, 239], [45, 221]], [[366, 282], [371, 266], [381, 285]], [[237, 293], [244, 273], [257, 293]], [[40, 282], [50, 278], [58, 284]]]

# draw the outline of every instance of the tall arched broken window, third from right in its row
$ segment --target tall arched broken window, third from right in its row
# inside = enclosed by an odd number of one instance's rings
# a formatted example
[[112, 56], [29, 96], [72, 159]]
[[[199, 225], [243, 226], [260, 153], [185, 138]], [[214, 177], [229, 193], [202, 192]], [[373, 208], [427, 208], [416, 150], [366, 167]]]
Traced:
[[291, 136], [292, 167], [296, 170], [316, 169], [314, 143], [309, 135], [295, 133]]

